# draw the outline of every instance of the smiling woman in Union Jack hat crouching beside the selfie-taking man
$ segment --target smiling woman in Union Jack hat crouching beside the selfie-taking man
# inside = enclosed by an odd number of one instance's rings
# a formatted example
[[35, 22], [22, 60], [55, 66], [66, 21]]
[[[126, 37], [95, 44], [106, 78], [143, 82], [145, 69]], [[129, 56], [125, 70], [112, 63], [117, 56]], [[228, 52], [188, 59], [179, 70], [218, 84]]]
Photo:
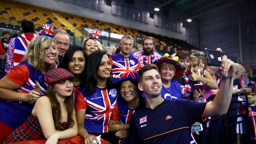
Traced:
[[115, 144], [129, 144], [129, 127], [132, 115], [145, 106], [138, 89], [137, 71], [125, 72], [115, 82], [120, 95], [109, 121], [109, 131], [115, 131], [118, 139]]

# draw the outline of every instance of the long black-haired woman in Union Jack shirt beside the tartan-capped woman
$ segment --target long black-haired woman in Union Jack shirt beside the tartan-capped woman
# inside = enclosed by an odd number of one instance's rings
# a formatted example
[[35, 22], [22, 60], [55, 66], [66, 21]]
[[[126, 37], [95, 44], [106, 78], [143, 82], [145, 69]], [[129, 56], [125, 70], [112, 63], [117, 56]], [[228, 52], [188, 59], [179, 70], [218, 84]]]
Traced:
[[96, 136], [101, 134], [101, 138], [110, 141], [108, 123], [118, 95], [105, 51], [95, 51], [88, 56], [86, 73], [86, 85], [78, 88], [76, 99], [78, 133], [85, 144], [93, 143], [93, 139], [97, 141]]

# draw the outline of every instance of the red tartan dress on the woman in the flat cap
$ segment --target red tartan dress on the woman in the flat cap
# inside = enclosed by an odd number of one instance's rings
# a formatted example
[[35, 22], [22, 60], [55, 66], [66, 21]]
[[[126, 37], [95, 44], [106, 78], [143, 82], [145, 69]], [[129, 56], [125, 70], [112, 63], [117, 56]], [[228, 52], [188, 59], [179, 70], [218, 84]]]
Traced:
[[[60, 126], [67, 129], [69, 123], [60, 123]], [[13, 143], [28, 140], [45, 140], [38, 118], [30, 115], [26, 122], [14, 129], [4, 140], [4, 143]]]

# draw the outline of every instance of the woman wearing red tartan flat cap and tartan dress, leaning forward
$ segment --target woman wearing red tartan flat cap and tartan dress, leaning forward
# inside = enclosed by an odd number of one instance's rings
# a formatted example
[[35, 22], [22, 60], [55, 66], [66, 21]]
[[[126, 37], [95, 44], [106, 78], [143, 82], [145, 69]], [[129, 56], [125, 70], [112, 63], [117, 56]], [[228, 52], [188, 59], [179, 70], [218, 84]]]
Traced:
[[56, 144], [58, 139], [76, 136], [72, 78], [74, 75], [62, 68], [47, 72], [47, 96], [36, 101], [27, 121], [14, 129], [4, 143], [47, 139], [46, 144]]

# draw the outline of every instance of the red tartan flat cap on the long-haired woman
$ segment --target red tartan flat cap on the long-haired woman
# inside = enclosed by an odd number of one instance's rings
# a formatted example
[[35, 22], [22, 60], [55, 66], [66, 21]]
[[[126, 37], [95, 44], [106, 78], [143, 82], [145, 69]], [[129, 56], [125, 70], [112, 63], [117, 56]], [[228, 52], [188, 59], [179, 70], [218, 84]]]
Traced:
[[75, 76], [63, 68], [54, 68], [45, 74], [46, 81], [48, 84], [63, 81], [68, 78], [74, 78]]

